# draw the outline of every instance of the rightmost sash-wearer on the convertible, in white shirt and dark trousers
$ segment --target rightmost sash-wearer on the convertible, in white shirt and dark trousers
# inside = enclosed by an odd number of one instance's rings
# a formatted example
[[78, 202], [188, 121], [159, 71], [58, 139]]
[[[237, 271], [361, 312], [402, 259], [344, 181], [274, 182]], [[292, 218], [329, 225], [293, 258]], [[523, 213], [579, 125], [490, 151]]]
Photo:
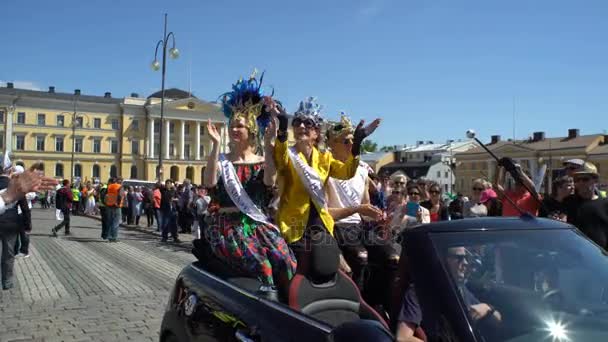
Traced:
[[[346, 162], [352, 156], [354, 131], [344, 113], [340, 123], [327, 130], [327, 144], [337, 160]], [[334, 236], [346, 262], [352, 267], [355, 283], [363, 291], [368, 259], [377, 265], [396, 265], [399, 255], [392, 249], [390, 241], [380, 238], [373, 229], [374, 222], [382, 220], [382, 211], [370, 203], [368, 189], [372, 170], [364, 162], [359, 163], [353, 178], [339, 180], [330, 177], [325, 189], [328, 211], [335, 221]]]

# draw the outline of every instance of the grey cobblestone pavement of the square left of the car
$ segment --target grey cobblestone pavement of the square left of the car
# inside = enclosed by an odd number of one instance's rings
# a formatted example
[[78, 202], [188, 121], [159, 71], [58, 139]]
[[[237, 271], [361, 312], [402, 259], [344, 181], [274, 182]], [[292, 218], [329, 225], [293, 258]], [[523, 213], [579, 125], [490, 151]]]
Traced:
[[15, 287], [0, 291], [0, 342], [158, 341], [167, 294], [194, 260], [189, 242], [121, 228], [108, 243], [101, 223], [82, 216], [72, 235], [53, 238], [54, 210], [34, 209], [32, 219], [30, 257], [15, 261]]

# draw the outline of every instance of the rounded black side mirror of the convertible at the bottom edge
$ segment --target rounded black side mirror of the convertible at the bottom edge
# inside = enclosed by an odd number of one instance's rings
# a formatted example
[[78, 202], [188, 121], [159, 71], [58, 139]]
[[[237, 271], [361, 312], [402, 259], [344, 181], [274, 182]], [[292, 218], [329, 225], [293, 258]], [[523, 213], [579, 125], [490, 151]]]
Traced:
[[395, 338], [377, 321], [360, 319], [346, 322], [334, 330], [329, 337], [331, 342], [392, 342]]

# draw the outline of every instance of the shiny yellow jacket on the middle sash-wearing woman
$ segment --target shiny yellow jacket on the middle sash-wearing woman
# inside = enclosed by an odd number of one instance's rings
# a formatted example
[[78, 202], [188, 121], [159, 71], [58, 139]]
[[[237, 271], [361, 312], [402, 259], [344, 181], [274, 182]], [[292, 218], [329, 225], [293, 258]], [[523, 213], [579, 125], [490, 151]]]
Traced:
[[[275, 141], [274, 161], [279, 177], [282, 178], [281, 200], [277, 212], [277, 223], [287, 243], [293, 243], [302, 238], [308, 223], [310, 212], [310, 195], [300, 180], [294, 166], [289, 159], [287, 142]], [[306, 157], [298, 154], [300, 158], [308, 163]], [[349, 157], [346, 162], [334, 159], [330, 152], [320, 152], [315, 147], [312, 149], [312, 165], [319, 175], [323, 184], [327, 183], [329, 177], [337, 179], [351, 179], [357, 172], [359, 157]], [[314, 203], [314, 202], [313, 202]], [[314, 204], [317, 207], [317, 204]], [[317, 212], [325, 228], [333, 235], [334, 220], [326, 208], [317, 207]]]

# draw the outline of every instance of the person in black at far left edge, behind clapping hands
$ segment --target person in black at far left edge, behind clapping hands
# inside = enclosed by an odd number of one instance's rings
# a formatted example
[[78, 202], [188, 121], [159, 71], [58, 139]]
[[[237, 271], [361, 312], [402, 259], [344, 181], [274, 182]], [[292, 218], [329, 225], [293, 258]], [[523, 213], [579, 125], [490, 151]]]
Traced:
[[[11, 179], [23, 173], [22, 166], [12, 166], [12, 163], [4, 165], [0, 172], [0, 190], [6, 191]], [[24, 215], [29, 215], [29, 206], [25, 194], [20, 196], [16, 201], [15, 206], [0, 215], [0, 274], [2, 281], [2, 289], [10, 290], [13, 288], [13, 268], [15, 264], [15, 254], [19, 250], [17, 247], [20, 232], [23, 229], [31, 229], [31, 226], [24, 227], [27, 221], [31, 223], [29, 218], [24, 220]], [[21, 214], [20, 214], [21, 213]]]

